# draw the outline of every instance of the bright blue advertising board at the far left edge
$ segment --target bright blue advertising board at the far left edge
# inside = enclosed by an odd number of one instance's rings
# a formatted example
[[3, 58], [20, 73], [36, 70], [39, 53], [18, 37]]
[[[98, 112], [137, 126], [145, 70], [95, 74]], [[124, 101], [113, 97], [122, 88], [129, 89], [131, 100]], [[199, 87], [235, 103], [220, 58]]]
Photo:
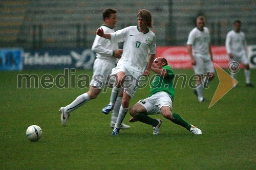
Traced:
[[22, 70], [22, 49], [0, 48], [0, 70]]

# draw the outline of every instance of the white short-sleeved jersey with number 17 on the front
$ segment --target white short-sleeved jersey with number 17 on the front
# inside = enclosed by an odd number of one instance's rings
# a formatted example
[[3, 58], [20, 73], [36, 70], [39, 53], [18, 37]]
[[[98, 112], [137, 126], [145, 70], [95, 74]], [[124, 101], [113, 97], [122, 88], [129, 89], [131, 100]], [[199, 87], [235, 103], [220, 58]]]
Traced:
[[123, 41], [123, 54], [118, 64], [143, 74], [148, 62], [148, 54], [156, 54], [155, 34], [150, 30], [142, 33], [138, 26], [126, 27], [111, 33], [111, 42]]

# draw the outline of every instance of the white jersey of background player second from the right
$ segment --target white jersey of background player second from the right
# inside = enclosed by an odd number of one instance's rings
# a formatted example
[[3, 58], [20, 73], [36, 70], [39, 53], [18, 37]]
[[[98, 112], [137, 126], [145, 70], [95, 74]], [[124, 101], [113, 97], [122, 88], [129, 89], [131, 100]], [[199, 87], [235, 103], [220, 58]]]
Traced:
[[210, 43], [210, 33], [208, 28], [204, 27], [203, 31], [200, 31], [197, 27], [190, 31], [188, 35], [187, 44], [192, 45], [193, 55], [199, 53], [202, 55], [208, 54]]

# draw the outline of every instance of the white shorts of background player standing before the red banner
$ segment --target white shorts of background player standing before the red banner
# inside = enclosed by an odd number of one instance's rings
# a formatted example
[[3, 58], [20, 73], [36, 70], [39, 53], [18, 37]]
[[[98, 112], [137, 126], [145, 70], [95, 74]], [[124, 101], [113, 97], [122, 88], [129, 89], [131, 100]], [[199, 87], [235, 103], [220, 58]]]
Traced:
[[214, 64], [212, 63], [208, 54], [202, 55], [199, 53], [194, 54], [196, 65], [193, 65], [195, 74], [204, 75], [206, 72], [214, 72]]

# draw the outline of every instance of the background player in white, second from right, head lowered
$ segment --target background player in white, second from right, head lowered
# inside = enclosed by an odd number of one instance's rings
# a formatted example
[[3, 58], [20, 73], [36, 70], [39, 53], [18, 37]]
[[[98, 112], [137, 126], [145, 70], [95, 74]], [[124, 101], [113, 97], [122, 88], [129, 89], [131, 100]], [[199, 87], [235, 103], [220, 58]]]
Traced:
[[210, 34], [205, 26], [205, 18], [197, 18], [197, 27], [190, 31], [187, 40], [187, 51], [195, 74], [198, 75], [197, 88], [194, 90], [199, 102], [204, 101], [203, 88], [215, 77], [214, 64], [210, 45]]

